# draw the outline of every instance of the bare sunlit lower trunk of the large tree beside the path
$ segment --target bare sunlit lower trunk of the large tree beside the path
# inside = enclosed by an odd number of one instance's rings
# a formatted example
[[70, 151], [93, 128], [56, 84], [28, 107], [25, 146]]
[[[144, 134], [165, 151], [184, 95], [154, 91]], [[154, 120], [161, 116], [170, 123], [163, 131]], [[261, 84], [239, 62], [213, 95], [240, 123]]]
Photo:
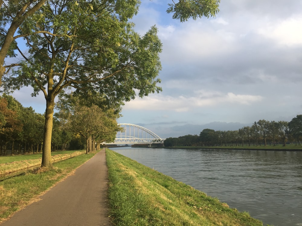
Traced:
[[46, 100], [45, 111], [45, 124], [44, 124], [44, 137], [43, 137], [43, 151], [42, 151], [42, 164], [43, 167], [51, 167], [51, 133], [53, 129], [53, 108], [54, 98]]

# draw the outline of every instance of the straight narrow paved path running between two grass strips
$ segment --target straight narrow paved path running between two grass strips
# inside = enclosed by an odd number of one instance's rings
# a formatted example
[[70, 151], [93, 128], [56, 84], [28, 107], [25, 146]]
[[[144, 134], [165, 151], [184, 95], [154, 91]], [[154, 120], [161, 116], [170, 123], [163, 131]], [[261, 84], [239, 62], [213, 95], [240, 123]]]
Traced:
[[105, 151], [80, 166], [75, 174], [14, 214], [1, 226], [110, 225]]

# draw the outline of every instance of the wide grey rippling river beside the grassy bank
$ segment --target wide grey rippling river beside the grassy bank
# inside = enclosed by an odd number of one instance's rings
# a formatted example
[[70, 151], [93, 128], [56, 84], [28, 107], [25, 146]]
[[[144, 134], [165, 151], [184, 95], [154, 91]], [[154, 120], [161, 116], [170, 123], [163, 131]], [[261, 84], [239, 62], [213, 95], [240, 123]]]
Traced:
[[111, 148], [264, 225], [302, 226], [302, 152]]

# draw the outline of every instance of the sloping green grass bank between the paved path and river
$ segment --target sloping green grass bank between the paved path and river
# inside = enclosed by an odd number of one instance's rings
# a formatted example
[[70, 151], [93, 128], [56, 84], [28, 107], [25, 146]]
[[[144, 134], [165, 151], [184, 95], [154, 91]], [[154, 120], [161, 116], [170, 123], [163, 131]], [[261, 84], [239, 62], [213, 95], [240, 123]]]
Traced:
[[262, 226], [247, 212], [123, 155], [106, 149], [106, 158], [114, 225]]

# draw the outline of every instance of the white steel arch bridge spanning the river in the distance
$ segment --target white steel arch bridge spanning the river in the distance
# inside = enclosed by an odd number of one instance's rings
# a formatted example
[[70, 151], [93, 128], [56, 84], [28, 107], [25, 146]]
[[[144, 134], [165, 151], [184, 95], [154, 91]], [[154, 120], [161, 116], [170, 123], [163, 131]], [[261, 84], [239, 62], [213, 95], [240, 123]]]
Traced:
[[114, 143], [103, 144], [162, 144], [165, 139], [160, 138], [152, 131], [134, 124], [117, 124], [121, 127], [117, 131]]

